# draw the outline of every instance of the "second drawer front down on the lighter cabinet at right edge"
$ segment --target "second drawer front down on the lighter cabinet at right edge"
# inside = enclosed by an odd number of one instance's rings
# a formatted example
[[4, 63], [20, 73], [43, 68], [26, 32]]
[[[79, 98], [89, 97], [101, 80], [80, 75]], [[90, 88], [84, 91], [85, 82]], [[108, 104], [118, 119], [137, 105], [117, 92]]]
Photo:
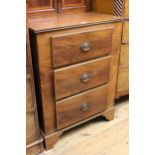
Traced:
[[120, 67], [129, 65], [129, 44], [122, 44], [120, 55]]

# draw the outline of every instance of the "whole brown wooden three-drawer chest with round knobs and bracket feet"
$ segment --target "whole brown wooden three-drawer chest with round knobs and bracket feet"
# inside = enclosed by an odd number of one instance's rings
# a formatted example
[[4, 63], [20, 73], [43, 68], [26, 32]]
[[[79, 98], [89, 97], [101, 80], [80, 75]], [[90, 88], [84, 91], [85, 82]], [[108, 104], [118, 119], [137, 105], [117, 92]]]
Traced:
[[114, 117], [121, 18], [94, 12], [29, 20], [46, 149], [95, 117]]

